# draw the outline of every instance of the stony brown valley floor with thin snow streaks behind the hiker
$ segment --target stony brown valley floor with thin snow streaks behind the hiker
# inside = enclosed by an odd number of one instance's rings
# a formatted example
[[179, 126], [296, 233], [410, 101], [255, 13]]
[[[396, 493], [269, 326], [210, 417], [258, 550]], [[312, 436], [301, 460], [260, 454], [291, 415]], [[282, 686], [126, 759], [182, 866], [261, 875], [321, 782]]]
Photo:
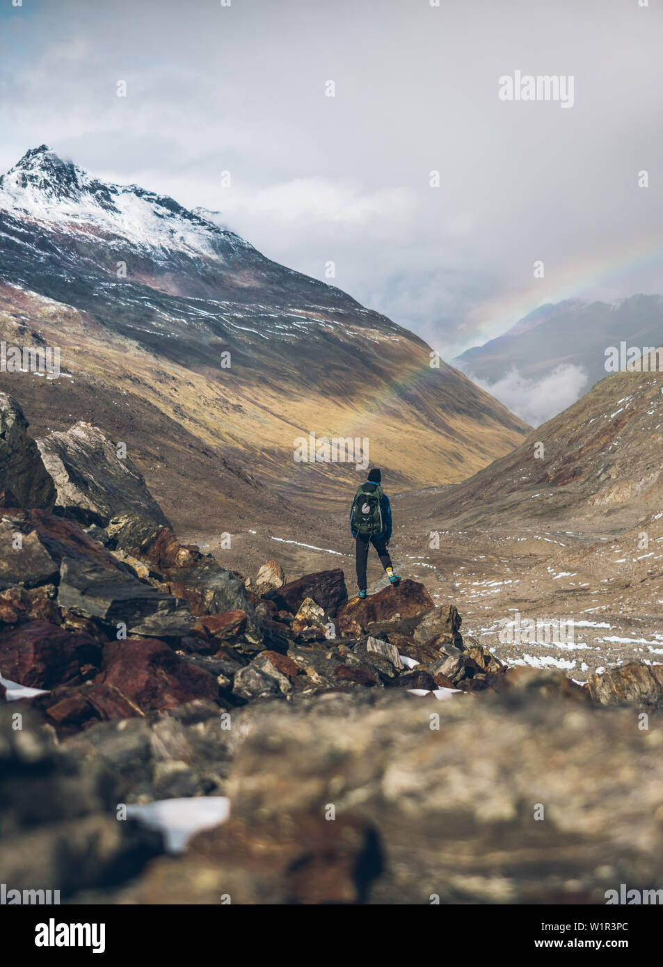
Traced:
[[[658, 522], [648, 525], [649, 545], [642, 547], [638, 527], [616, 536], [587, 517], [558, 521], [555, 529], [529, 521], [508, 530], [454, 532], [445, 530], [444, 521], [422, 522], [420, 507], [418, 494], [392, 498], [389, 550], [396, 571], [421, 581], [436, 604], [454, 603], [462, 632], [499, 659], [559, 668], [581, 683], [594, 671], [627, 661], [663, 662], [663, 529]], [[288, 579], [340, 567], [350, 596], [357, 593], [345, 513], [312, 529], [258, 523], [233, 535], [230, 548], [221, 546], [218, 534], [182, 537], [245, 576], [254, 576], [270, 559], [282, 565]], [[386, 583], [371, 550], [368, 590]]]

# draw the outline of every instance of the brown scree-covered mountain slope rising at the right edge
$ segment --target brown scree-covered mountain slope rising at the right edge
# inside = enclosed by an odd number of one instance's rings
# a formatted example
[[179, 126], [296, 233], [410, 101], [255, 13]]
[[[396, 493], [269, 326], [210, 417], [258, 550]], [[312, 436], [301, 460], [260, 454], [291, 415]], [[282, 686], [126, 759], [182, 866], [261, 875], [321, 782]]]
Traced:
[[[633, 526], [660, 507], [663, 373], [597, 383], [520, 447], [448, 487], [430, 515], [458, 526], [592, 518]], [[537, 455], [539, 454], [539, 455]]]

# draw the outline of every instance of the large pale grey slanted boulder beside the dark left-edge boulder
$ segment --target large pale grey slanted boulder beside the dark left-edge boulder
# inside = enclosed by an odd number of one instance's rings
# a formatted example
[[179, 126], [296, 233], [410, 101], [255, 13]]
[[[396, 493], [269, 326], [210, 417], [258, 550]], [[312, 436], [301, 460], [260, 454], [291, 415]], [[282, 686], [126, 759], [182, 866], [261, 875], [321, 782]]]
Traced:
[[168, 521], [129, 457], [98, 426], [77, 423], [37, 441], [56, 490], [56, 511], [105, 527], [118, 513], [134, 512], [154, 524]]

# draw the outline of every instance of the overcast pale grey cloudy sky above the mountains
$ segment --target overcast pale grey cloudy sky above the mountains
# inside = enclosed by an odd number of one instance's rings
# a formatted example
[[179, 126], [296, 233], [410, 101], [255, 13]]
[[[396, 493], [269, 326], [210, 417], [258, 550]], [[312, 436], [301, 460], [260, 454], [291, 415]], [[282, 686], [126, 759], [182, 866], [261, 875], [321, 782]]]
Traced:
[[[649, 2], [6, 0], [0, 168], [46, 143], [220, 211], [450, 359], [544, 302], [663, 292]], [[573, 106], [501, 101], [516, 70], [572, 74]]]

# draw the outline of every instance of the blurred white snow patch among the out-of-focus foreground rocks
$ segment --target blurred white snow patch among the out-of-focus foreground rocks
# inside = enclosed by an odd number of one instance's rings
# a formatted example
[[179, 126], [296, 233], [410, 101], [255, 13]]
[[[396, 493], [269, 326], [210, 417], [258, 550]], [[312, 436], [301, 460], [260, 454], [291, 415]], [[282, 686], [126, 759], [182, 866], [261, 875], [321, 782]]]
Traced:
[[194, 833], [209, 830], [228, 819], [230, 800], [226, 796], [163, 799], [127, 806], [127, 815], [152, 830], [159, 830], [169, 853], [181, 853]]

